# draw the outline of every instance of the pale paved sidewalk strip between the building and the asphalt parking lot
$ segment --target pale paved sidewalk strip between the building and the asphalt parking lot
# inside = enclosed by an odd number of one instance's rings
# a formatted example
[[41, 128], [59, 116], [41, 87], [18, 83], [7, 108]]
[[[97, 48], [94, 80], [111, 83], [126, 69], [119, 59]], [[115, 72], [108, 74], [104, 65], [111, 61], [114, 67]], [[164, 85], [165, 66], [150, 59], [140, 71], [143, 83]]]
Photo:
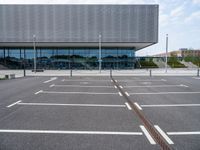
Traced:
[[[197, 76], [197, 69], [134, 69], [134, 70], [112, 70], [113, 76]], [[0, 77], [8, 74], [15, 74], [23, 77], [23, 70], [0, 70]], [[45, 70], [44, 72], [34, 73], [26, 70], [26, 76], [70, 76], [70, 70]], [[72, 70], [72, 76], [110, 76], [110, 70]]]

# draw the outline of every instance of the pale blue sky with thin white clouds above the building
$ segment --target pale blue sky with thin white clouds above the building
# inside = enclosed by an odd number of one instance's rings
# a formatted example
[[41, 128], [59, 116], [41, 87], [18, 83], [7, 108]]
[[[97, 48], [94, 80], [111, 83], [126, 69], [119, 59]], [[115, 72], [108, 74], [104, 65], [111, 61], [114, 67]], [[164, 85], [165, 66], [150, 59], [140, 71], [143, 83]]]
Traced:
[[136, 52], [137, 56], [200, 49], [200, 0], [0, 0], [0, 4], [159, 4], [158, 43]]

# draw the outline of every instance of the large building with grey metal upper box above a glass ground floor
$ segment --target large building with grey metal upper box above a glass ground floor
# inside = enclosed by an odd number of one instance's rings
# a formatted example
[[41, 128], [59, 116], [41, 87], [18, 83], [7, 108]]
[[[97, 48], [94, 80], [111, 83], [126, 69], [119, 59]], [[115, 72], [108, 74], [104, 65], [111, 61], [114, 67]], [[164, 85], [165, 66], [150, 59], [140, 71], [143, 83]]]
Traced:
[[34, 57], [38, 69], [132, 69], [158, 41], [158, 5], [0, 5], [0, 21], [11, 69], [33, 69]]

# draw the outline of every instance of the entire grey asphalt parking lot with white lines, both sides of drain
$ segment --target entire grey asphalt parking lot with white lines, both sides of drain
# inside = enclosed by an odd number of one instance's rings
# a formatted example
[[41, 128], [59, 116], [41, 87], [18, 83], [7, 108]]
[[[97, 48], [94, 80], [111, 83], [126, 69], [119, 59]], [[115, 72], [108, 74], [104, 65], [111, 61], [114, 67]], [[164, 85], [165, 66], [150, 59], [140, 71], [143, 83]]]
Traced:
[[200, 148], [200, 78], [0, 81], [0, 149], [161, 149], [118, 88], [174, 149]]

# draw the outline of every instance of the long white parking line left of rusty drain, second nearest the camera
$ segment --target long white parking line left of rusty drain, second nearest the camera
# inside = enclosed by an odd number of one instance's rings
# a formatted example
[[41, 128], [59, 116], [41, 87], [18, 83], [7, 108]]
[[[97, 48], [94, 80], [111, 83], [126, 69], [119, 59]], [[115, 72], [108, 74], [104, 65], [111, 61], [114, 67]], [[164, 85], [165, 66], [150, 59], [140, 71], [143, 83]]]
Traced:
[[77, 106], [77, 107], [126, 107], [125, 105], [105, 105], [105, 104], [61, 104], [61, 103], [17, 103], [18, 105], [31, 106]]

